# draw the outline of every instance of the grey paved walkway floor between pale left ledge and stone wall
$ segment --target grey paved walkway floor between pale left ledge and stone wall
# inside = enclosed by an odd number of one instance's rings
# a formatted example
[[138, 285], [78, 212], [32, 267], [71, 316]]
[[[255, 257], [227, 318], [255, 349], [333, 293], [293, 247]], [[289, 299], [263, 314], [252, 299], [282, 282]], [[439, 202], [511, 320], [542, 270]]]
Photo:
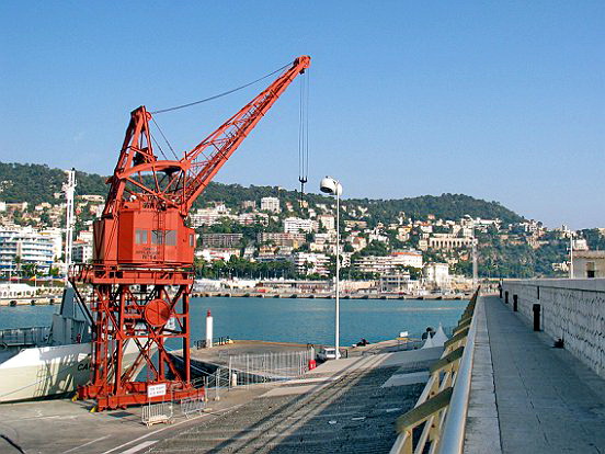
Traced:
[[605, 454], [605, 381], [483, 297], [502, 452]]

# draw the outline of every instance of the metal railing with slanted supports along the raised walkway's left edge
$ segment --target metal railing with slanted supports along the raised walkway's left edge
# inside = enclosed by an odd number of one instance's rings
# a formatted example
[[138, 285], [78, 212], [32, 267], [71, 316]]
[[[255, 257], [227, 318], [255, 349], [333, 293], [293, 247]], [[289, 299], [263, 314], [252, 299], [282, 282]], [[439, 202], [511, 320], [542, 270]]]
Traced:
[[[463, 452], [475, 349], [475, 308], [479, 288], [463, 313], [414, 408], [396, 422], [390, 454]], [[420, 436], [418, 436], [420, 432]], [[415, 436], [414, 436], [415, 434]]]

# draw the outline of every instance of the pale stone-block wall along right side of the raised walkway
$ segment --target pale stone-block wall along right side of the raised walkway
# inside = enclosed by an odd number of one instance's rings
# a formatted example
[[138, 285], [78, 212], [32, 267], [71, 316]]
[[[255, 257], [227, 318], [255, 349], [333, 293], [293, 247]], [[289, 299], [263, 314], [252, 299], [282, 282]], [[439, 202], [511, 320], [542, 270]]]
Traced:
[[504, 281], [503, 302], [506, 291], [530, 322], [539, 304], [541, 330], [605, 378], [605, 279]]

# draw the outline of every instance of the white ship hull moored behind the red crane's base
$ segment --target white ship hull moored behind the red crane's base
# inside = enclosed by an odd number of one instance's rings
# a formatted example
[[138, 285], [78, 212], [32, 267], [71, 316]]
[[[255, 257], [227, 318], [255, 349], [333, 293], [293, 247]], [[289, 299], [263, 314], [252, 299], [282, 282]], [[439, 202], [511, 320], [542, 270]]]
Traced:
[[[128, 345], [124, 367], [138, 349]], [[72, 393], [90, 381], [91, 343], [23, 349], [0, 363], [0, 404]]]

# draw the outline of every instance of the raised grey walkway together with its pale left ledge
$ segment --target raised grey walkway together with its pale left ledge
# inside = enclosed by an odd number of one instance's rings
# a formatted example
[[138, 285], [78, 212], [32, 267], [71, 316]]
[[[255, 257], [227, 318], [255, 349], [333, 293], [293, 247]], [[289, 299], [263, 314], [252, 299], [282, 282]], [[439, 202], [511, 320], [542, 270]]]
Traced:
[[605, 379], [498, 296], [478, 309], [465, 453], [605, 452]]

